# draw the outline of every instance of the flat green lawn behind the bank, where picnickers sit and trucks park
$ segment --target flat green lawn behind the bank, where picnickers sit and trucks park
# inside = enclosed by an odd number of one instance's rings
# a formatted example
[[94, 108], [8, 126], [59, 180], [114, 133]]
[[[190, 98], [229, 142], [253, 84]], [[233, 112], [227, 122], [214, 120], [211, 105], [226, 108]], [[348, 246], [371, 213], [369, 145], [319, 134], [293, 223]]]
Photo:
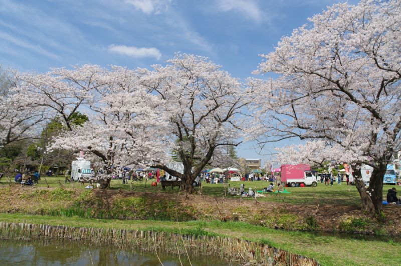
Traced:
[[[78, 190], [85, 190], [85, 186], [81, 183], [74, 182], [72, 183], [64, 183], [64, 176], [43, 176], [41, 180], [39, 180], [38, 187], [47, 187], [45, 182], [45, 178], [50, 187], [60, 187], [60, 185], [64, 185], [66, 188], [72, 188]], [[153, 179], [154, 180], [154, 179]], [[178, 190], [175, 187], [173, 190], [170, 188], [166, 188], [165, 191], [161, 189], [160, 185], [150, 186], [151, 181], [129, 181], [128, 184], [122, 184], [121, 180], [112, 180], [110, 189], [121, 189], [127, 191], [140, 191], [140, 192], [165, 192], [175, 194]], [[264, 181], [245, 181], [245, 182], [229, 182], [229, 184], [211, 184], [203, 182], [202, 193], [205, 195], [213, 195], [213, 196], [225, 196], [228, 185], [239, 187], [241, 183], [245, 184], [246, 191], [248, 191], [249, 187], [252, 187], [256, 190], [261, 190], [263, 187], [268, 186], [269, 182]], [[3, 178], [3, 182], [0, 186], [7, 185], [5, 178]], [[391, 188], [392, 185], [384, 185], [383, 186], [383, 198], [385, 199], [387, 190]], [[196, 187], [198, 190], [199, 188]], [[286, 187], [289, 194], [268, 194], [266, 197], [259, 197], [260, 201], [272, 201], [272, 202], [286, 202], [292, 204], [333, 204], [336, 205], [349, 205], [349, 206], [359, 206], [360, 198], [359, 193], [355, 186], [346, 185], [346, 182], [342, 184], [334, 183], [331, 185], [324, 185], [320, 182], [316, 187], [306, 186], [306, 187]], [[239, 198], [239, 196], [230, 196], [233, 198]], [[252, 200], [251, 198], [248, 198]]]

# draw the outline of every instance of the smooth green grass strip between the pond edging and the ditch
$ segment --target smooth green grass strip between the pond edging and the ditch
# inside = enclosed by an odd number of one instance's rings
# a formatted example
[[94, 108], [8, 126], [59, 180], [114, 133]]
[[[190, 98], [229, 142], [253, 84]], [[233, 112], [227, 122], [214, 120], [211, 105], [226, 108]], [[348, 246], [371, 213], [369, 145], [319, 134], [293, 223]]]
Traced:
[[54, 217], [0, 213], [0, 221], [26, 222], [79, 227], [121, 228], [190, 232], [191, 228], [205, 232], [268, 243], [293, 253], [316, 258], [322, 265], [398, 265], [401, 243], [391, 240], [363, 240], [350, 237], [319, 235], [311, 232], [284, 231], [244, 222], [222, 221], [155, 221], [113, 220], [79, 217]]

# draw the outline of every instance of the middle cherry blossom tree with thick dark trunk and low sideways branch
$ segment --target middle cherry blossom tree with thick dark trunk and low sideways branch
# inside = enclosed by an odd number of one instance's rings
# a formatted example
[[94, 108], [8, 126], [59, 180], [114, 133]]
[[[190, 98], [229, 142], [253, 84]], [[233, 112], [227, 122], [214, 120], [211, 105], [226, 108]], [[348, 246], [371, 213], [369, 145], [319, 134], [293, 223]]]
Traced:
[[193, 181], [216, 148], [241, 142], [246, 91], [238, 79], [201, 56], [177, 53], [167, 65], [153, 68], [139, 70], [141, 83], [163, 102], [159, 110], [168, 121], [164, 130], [168, 148], [179, 156], [184, 171], [162, 163], [152, 167], [181, 178], [184, 190], [192, 193]]

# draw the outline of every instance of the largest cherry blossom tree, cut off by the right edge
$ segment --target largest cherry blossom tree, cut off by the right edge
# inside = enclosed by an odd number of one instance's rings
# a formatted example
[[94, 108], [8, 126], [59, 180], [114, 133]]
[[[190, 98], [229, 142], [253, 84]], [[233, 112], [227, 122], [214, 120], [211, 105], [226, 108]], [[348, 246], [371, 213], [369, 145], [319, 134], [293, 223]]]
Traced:
[[401, 2], [334, 4], [309, 21], [262, 55], [258, 72], [278, 77], [251, 81], [262, 103], [254, 131], [261, 142], [321, 140], [295, 148], [300, 158], [372, 166], [369, 188], [356, 184], [362, 210], [380, 213], [386, 164], [401, 145]]

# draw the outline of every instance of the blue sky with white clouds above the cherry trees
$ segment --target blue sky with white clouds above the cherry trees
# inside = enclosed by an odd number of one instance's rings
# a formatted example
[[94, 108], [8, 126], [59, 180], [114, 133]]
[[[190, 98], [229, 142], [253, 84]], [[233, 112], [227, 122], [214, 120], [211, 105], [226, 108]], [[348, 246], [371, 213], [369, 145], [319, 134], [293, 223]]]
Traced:
[[[246, 78], [259, 54], [335, 2], [0, 0], [0, 64], [38, 72], [85, 63], [149, 67], [180, 51], [207, 56]], [[238, 151], [267, 157], [252, 144]]]

